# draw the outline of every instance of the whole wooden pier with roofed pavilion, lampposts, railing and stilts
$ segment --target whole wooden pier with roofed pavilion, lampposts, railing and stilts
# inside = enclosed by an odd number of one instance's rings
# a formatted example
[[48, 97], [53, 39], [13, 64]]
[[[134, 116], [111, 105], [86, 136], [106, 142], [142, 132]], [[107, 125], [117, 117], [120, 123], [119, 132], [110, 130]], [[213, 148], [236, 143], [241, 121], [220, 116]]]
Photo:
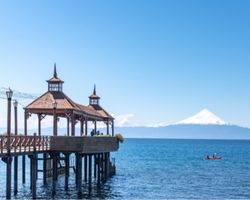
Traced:
[[[92, 182], [104, 183], [115, 174], [115, 165], [111, 162], [110, 153], [119, 149], [119, 141], [114, 136], [114, 118], [100, 105], [100, 97], [89, 96], [89, 105], [83, 106], [72, 101], [63, 93], [63, 81], [57, 77], [54, 66], [53, 77], [47, 81], [48, 91], [37, 98], [24, 109], [24, 135], [18, 134], [17, 102], [14, 102], [15, 134], [11, 135], [11, 96], [7, 92], [7, 135], [0, 136], [0, 157], [6, 164], [6, 199], [11, 198], [12, 163], [14, 161], [14, 195], [18, 193], [18, 160], [22, 159], [22, 183], [26, 183], [26, 162], [30, 162], [30, 189], [32, 198], [37, 198], [37, 177], [43, 173], [43, 184], [52, 178], [52, 194], [55, 195], [59, 174], [64, 174], [65, 190], [69, 189], [69, 171], [74, 167], [75, 183], [79, 195], [82, 193], [82, 183], [87, 182], [91, 188]], [[31, 115], [38, 117], [38, 132], [28, 133], [28, 119]], [[53, 116], [52, 136], [43, 136], [41, 121], [46, 116]], [[58, 119], [67, 119], [67, 136], [58, 134]], [[106, 134], [98, 131], [98, 123], [106, 125]], [[77, 134], [75, 125], [80, 123]], [[89, 123], [93, 129], [88, 133]], [[70, 158], [74, 156], [74, 165]], [[28, 159], [27, 159], [28, 158]], [[43, 162], [38, 169], [38, 162]], [[40, 165], [41, 166], [41, 165]], [[84, 173], [82, 174], [82, 171]], [[39, 196], [38, 196], [39, 197]], [[48, 196], [50, 198], [50, 196]]]

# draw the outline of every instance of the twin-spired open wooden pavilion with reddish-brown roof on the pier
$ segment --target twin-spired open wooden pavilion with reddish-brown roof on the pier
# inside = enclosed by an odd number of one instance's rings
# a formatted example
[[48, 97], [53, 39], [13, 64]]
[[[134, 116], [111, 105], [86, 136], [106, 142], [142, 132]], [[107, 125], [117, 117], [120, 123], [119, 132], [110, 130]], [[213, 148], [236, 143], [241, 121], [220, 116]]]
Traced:
[[24, 133], [27, 135], [27, 121], [32, 114], [38, 117], [38, 135], [41, 135], [41, 121], [46, 116], [53, 116], [53, 136], [57, 136], [58, 118], [67, 119], [67, 136], [75, 136], [75, 126], [80, 122], [80, 135], [88, 135], [88, 123], [94, 124], [92, 135], [97, 134], [97, 122], [103, 122], [107, 127], [107, 135], [114, 136], [114, 118], [99, 104], [100, 97], [89, 96], [89, 105], [75, 103], [63, 92], [63, 83], [58, 76], [56, 64], [54, 74], [48, 81], [48, 91], [24, 108]]

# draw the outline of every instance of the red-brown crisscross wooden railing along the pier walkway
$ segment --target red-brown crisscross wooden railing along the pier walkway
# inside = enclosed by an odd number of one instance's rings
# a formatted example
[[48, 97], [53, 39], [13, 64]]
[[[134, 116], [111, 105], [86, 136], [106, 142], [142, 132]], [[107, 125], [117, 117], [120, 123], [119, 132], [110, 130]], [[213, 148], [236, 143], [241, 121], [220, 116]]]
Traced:
[[46, 151], [49, 148], [49, 136], [0, 136], [1, 154]]

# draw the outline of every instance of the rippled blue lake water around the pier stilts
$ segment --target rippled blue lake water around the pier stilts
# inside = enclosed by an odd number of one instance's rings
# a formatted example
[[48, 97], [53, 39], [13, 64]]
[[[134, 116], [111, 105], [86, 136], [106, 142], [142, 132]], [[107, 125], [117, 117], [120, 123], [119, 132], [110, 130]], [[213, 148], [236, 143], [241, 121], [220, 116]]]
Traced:
[[[214, 152], [223, 159], [203, 159]], [[100, 188], [83, 185], [83, 199], [250, 199], [250, 141], [127, 139], [112, 157], [117, 175]], [[0, 167], [4, 198], [5, 165]], [[51, 182], [44, 187], [40, 177], [38, 197], [50, 198], [50, 189]], [[31, 198], [28, 174], [15, 198]], [[70, 190], [64, 191], [60, 177], [55, 199], [76, 198], [71, 172]]]

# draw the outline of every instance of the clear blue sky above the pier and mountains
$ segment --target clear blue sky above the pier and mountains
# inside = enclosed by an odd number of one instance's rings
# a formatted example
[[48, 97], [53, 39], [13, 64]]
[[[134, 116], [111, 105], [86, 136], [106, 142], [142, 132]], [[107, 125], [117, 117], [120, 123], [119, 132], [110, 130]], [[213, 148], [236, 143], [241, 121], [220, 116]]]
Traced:
[[243, 0], [1, 1], [0, 86], [41, 94], [56, 62], [68, 96], [87, 104], [96, 83], [119, 120], [175, 123], [208, 108], [250, 127], [249, 10]]

